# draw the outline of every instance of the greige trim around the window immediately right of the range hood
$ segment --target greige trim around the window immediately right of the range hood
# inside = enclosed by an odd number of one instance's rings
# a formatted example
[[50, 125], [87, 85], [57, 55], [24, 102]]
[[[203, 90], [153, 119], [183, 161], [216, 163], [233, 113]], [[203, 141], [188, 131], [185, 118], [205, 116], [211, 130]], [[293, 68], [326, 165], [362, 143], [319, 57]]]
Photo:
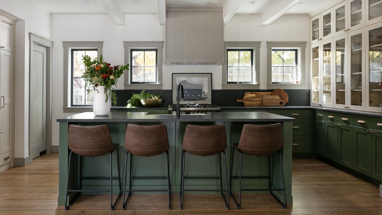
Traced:
[[[246, 89], [260, 89], [260, 47], [261, 42], [224, 42], [224, 63], [222, 64], [222, 90], [246, 90]], [[244, 84], [227, 84], [227, 49], [252, 49], [253, 50], [253, 83]]]

